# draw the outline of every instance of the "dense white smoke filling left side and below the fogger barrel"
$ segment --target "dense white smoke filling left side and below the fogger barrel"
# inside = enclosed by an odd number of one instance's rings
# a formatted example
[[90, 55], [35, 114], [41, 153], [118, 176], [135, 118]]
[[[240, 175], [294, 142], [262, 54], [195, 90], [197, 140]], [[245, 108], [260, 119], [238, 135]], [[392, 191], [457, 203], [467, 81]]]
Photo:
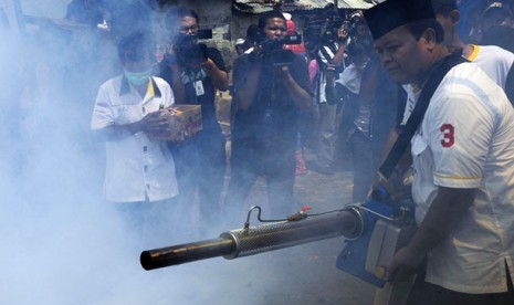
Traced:
[[[104, 202], [104, 144], [88, 130], [97, 87], [114, 76], [117, 59], [105, 40], [69, 34], [41, 28], [3, 40], [0, 46], [4, 107], [0, 304], [258, 305], [340, 299], [308, 291], [310, 283], [323, 283], [337, 294], [345, 285], [345, 275], [335, 269], [338, 240], [234, 261], [218, 257], [143, 270], [139, 254], [149, 243]], [[84, 41], [93, 49], [77, 48]], [[176, 224], [182, 231], [171, 240], [151, 241], [151, 246], [190, 241], [183, 238], [190, 225]], [[230, 229], [235, 228], [224, 228]], [[211, 233], [217, 238], [221, 231]], [[329, 249], [329, 254], [316, 256], [319, 248]]]

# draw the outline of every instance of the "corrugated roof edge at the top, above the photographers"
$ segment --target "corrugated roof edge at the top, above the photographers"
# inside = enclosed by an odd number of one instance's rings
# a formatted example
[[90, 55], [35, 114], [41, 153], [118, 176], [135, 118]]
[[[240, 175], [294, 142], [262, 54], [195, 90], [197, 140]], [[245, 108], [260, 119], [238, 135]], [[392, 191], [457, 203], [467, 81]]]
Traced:
[[[380, 1], [376, 0], [338, 0], [339, 9], [369, 9]], [[233, 0], [233, 8], [248, 13], [261, 13], [272, 10], [279, 0]], [[283, 11], [305, 11], [323, 9], [333, 0], [282, 0]]]

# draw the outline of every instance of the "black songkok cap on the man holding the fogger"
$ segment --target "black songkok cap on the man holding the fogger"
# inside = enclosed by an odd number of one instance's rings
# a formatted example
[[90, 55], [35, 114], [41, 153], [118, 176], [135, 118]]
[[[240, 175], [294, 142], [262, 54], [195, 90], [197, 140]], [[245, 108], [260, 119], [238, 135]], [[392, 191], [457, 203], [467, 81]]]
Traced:
[[378, 40], [398, 27], [423, 19], [436, 19], [430, 0], [387, 0], [364, 11], [369, 30]]

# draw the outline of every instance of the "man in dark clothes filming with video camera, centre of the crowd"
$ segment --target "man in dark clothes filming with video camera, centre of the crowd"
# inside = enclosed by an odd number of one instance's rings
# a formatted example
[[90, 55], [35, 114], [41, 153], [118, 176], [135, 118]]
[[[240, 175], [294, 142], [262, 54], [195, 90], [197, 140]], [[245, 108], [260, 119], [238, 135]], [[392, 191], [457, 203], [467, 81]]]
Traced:
[[279, 11], [259, 19], [263, 35], [250, 54], [234, 61], [235, 111], [227, 211], [240, 219], [244, 199], [263, 175], [273, 217], [293, 209], [295, 144], [300, 112], [314, 108], [305, 59], [290, 50]]

